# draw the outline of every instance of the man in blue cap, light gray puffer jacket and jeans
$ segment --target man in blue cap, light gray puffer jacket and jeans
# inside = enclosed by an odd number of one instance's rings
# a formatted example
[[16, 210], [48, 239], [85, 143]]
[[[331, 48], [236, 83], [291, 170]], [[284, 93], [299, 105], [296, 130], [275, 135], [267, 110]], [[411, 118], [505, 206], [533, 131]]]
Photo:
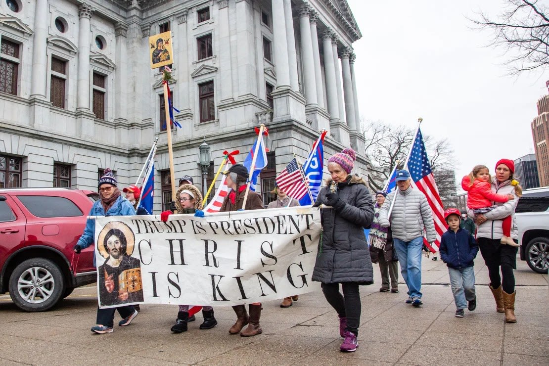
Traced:
[[433, 211], [427, 197], [419, 189], [412, 188], [410, 173], [406, 170], [397, 170], [395, 180], [397, 189], [387, 195], [379, 210], [379, 224], [384, 228], [391, 227], [393, 243], [399, 255], [400, 273], [408, 286], [406, 303], [417, 307], [423, 305], [421, 301], [423, 230], [425, 229], [427, 233], [428, 243], [434, 243], [436, 240]]

